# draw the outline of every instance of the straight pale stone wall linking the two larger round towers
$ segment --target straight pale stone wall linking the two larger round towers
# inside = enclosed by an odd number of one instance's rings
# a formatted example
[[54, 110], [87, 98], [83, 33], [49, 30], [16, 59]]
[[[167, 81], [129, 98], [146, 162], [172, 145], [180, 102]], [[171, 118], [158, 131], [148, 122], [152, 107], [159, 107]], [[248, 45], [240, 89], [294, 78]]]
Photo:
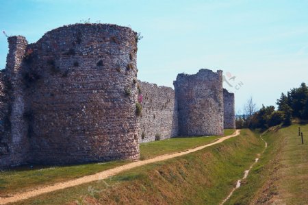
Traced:
[[[177, 136], [177, 101], [175, 91], [166, 86], [157, 86], [138, 81], [142, 96], [140, 118], [140, 143]], [[141, 98], [140, 98], [141, 99]]]

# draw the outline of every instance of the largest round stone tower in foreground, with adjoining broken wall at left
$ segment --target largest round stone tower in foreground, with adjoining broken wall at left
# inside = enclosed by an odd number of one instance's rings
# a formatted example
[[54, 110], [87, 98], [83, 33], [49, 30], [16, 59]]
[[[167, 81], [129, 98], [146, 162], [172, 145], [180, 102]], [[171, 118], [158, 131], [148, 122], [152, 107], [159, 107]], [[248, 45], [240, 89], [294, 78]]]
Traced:
[[22, 36], [8, 41], [1, 118], [12, 126], [0, 139], [1, 164], [139, 158], [136, 32], [76, 24], [34, 44]]

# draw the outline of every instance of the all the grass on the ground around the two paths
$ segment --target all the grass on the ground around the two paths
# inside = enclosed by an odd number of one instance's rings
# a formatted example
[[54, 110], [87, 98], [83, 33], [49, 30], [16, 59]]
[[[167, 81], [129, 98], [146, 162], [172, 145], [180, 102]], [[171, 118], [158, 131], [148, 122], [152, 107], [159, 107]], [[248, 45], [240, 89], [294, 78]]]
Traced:
[[[261, 133], [242, 130], [240, 136], [192, 154], [145, 165], [107, 180], [55, 191], [16, 204], [220, 204], [257, 157], [259, 162], [226, 204], [307, 204], [308, 125], [300, 125], [304, 133], [304, 145], [298, 136], [298, 126], [277, 126], [264, 132], [262, 138], [268, 143], [267, 149], [264, 149], [264, 142], [259, 137]], [[225, 130], [226, 135], [232, 132]], [[140, 149], [144, 158], [152, 158], [210, 143], [217, 138], [174, 138], [145, 143]], [[102, 164], [103, 167], [108, 169], [108, 166], [116, 166], [108, 163]], [[120, 165], [126, 162], [110, 163]], [[94, 171], [99, 165], [79, 166], [84, 166], [82, 170]], [[73, 168], [73, 172], [68, 171], [69, 167], [64, 167], [68, 176], [56, 171], [54, 176], [50, 176], [50, 182], [53, 177], [62, 176], [64, 180], [74, 174], [85, 174], [79, 173], [79, 166]], [[45, 169], [48, 170], [56, 169]], [[32, 171], [28, 175], [20, 175], [18, 171], [1, 173], [0, 193], [24, 186], [18, 182], [31, 186], [40, 184], [40, 180], [48, 182], [44, 175], [38, 174], [39, 169]]]

